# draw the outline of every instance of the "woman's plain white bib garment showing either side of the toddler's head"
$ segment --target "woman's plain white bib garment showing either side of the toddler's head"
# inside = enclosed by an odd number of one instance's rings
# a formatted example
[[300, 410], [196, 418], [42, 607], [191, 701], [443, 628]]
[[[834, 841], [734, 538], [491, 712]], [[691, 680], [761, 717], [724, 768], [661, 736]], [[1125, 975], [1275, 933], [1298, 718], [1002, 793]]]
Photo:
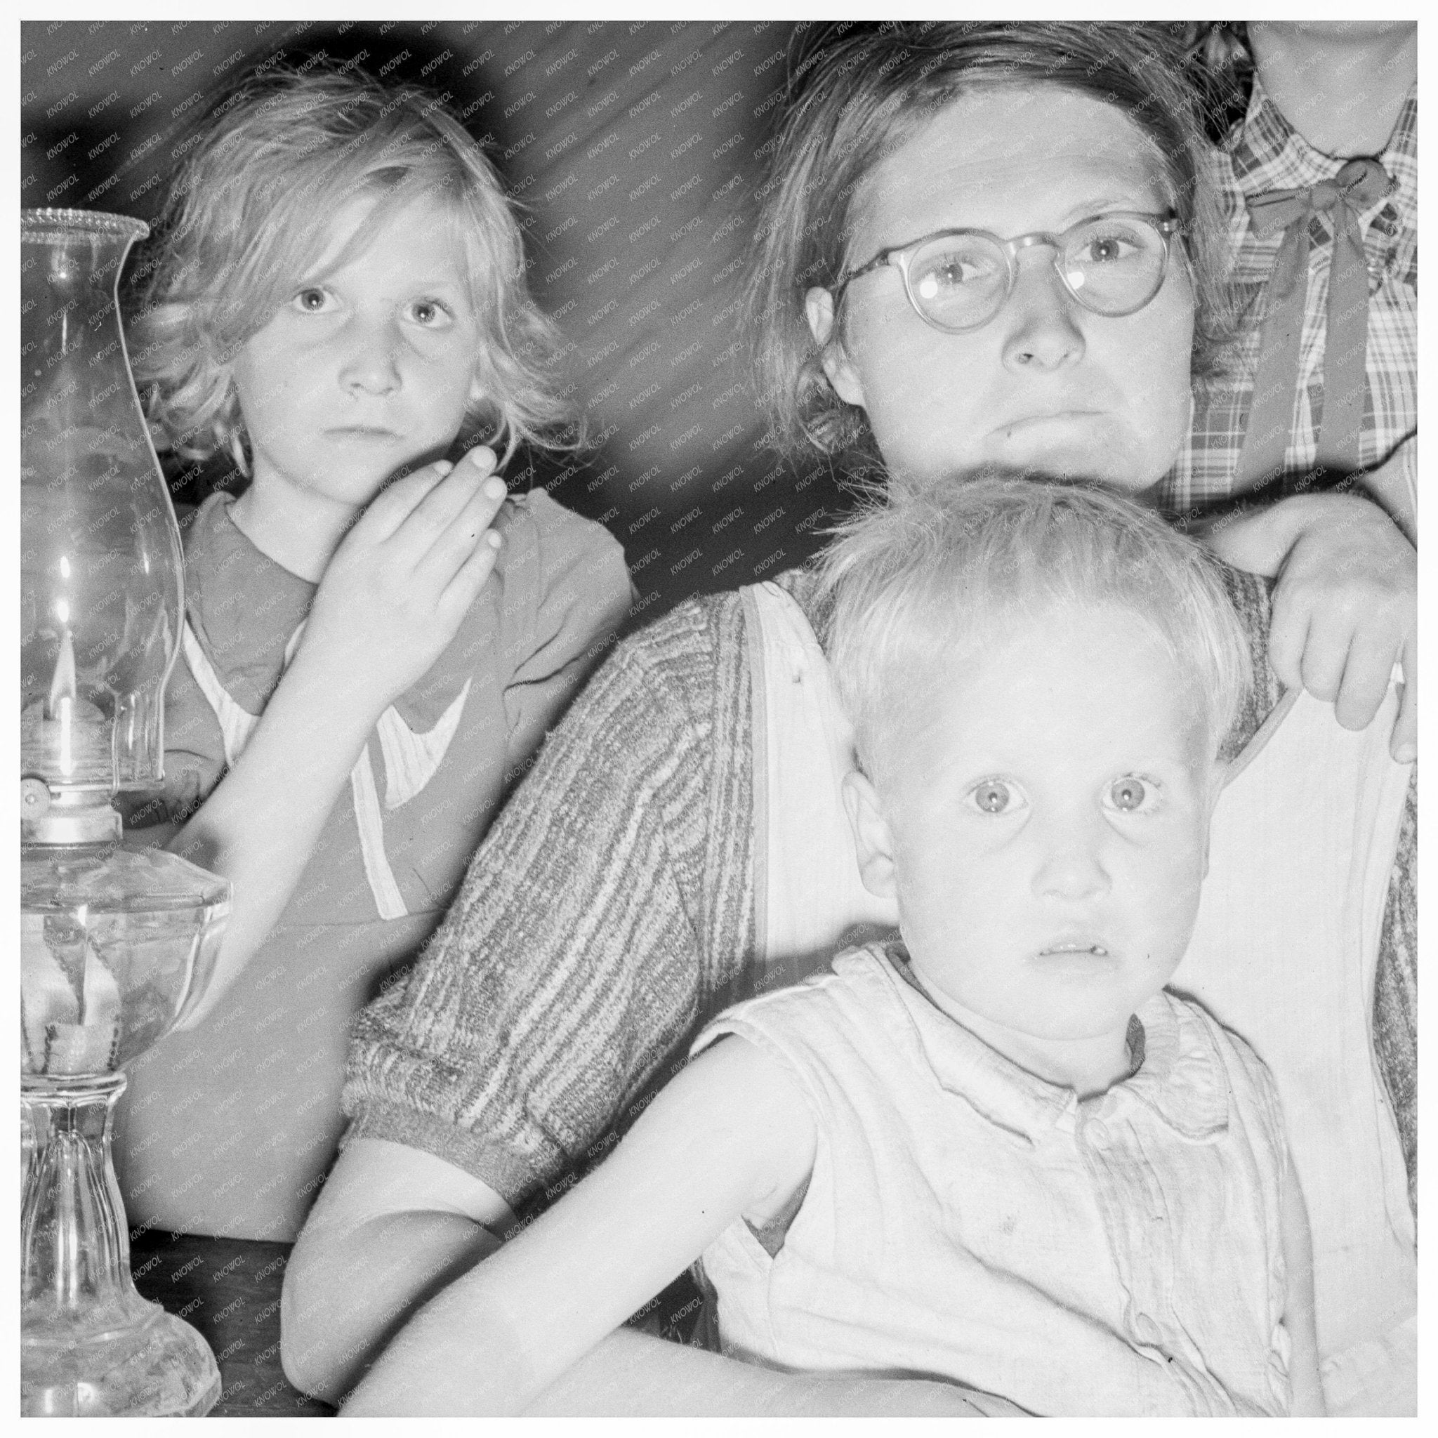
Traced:
[[[802, 610], [742, 591], [755, 732], [761, 968], [792, 982], [847, 939], [894, 928], [860, 881], [840, 779], [853, 729]], [[1172, 988], [1273, 1073], [1313, 1229], [1330, 1414], [1416, 1412], [1418, 1265], [1398, 1127], [1370, 1021], [1409, 766], [1388, 754], [1391, 689], [1363, 731], [1284, 697], [1218, 802], [1198, 926]]]

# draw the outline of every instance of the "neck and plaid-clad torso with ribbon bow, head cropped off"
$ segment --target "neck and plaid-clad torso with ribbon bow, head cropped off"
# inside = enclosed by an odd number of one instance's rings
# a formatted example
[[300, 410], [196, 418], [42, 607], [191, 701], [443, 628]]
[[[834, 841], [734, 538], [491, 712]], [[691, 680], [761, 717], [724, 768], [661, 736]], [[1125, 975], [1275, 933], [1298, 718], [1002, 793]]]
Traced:
[[1204, 512], [1255, 487], [1355, 477], [1416, 544], [1418, 27], [1188, 30], [1252, 322], [1198, 388], [1189, 449], [1160, 493]]

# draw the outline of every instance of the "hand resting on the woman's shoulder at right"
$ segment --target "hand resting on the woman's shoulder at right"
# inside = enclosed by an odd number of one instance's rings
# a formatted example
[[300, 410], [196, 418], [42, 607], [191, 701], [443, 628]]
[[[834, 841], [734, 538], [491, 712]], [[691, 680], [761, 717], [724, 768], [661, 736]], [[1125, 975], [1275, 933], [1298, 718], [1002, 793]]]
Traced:
[[1418, 745], [1418, 551], [1372, 500], [1294, 495], [1215, 522], [1204, 538], [1228, 564], [1276, 578], [1268, 653], [1288, 689], [1334, 706], [1362, 729], [1388, 693], [1395, 663], [1403, 700], [1391, 749]]

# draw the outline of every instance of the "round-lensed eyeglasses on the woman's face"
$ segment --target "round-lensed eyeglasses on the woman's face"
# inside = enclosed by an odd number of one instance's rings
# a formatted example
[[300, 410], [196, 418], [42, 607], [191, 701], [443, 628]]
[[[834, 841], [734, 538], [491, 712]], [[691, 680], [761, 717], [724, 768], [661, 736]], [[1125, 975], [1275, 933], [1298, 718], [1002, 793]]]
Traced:
[[909, 303], [923, 322], [962, 335], [986, 325], [1004, 308], [1018, 280], [1018, 252], [1051, 244], [1064, 289], [1084, 309], [1112, 318], [1132, 315], [1163, 288], [1169, 236], [1176, 232], [1172, 210], [1114, 210], [1080, 220], [1063, 234], [1035, 230], [1012, 240], [988, 230], [940, 230], [880, 250], [867, 265], [841, 275], [834, 308], [856, 279], [892, 265], [903, 275]]

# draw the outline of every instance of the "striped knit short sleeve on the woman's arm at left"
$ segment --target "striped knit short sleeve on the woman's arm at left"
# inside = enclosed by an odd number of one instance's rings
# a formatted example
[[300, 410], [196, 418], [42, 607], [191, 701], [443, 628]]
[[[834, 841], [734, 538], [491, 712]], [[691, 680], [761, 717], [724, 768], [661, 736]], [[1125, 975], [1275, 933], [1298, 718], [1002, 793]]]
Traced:
[[754, 951], [742, 626], [736, 595], [690, 601], [595, 674], [417, 966], [357, 1020], [348, 1137], [518, 1205], [683, 1055]]

